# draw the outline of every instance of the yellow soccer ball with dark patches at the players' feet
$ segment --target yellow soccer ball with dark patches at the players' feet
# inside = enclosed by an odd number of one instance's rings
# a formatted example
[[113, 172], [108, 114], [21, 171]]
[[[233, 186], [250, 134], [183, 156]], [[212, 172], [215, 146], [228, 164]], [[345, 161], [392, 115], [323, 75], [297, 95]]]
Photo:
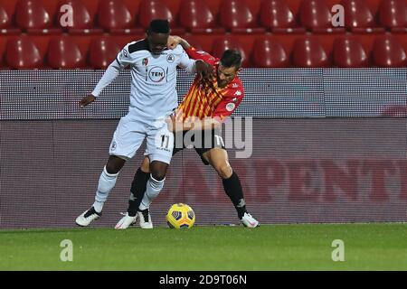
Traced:
[[181, 202], [172, 205], [166, 214], [166, 223], [169, 228], [191, 228], [194, 226], [194, 222], [194, 210]]

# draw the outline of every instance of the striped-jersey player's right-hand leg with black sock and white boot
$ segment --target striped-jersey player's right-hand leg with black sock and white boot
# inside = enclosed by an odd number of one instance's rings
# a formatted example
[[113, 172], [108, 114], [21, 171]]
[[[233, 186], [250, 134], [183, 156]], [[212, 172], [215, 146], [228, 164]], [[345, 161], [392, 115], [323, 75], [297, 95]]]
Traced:
[[241, 188], [241, 181], [229, 163], [228, 153], [223, 148], [213, 148], [202, 154], [202, 158], [210, 163], [222, 178], [223, 189], [232, 200], [233, 206], [238, 213], [238, 218], [244, 226], [255, 228], [259, 222], [246, 210], [246, 202]]

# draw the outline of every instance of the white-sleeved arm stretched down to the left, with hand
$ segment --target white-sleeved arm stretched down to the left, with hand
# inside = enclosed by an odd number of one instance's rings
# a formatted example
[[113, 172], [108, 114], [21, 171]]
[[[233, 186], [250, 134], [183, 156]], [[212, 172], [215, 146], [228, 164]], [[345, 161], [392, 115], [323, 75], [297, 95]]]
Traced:
[[131, 58], [128, 53], [128, 45], [123, 48], [122, 51], [118, 52], [116, 59], [110, 63], [108, 69], [103, 74], [102, 78], [99, 80], [95, 89], [91, 92], [89, 96], [86, 96], [80, 99], [80, 107], [86, 107], [90, 103], [96, 100], [99, 97], [100, 92], [105, 89], [114, 79], [118, 77], [118, 73], [131, 64]]

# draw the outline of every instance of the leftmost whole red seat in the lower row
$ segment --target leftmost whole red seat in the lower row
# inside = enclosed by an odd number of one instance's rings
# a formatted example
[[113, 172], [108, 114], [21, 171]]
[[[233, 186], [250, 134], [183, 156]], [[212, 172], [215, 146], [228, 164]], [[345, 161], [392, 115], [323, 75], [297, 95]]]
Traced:
[[38, 47], [26, 37], [13, 38], [7, 42], [5, 59], [8, 67], [14, 70], [43, 67], [43, 58]]

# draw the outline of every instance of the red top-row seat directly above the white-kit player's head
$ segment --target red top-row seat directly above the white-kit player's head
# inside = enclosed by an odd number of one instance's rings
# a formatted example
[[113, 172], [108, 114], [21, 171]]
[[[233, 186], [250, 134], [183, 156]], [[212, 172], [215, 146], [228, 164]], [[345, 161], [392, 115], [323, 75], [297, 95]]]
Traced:
[[153, 19], [168, 19], [171, 23], [171, 33], [183, 34], [185, 29], [178, 27], [175, 16], [168, 6], [160, 0], [142, 0], [138, 8], [138, 23], [141, 28], [147, 29]]

